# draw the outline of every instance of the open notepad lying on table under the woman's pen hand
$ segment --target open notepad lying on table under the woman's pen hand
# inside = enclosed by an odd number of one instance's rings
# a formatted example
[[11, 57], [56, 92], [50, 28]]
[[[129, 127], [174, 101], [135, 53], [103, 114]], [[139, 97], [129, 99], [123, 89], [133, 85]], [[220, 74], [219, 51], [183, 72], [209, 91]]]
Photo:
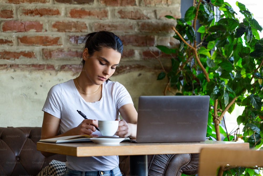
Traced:
[[[62, 136], [54, 137], [50, 139], [41, 139], [39, 142], [52, 142], [52, 143], [63, 143], [63, 142], [91, 142], [90, 138], [119, 138], [112, 136], [96, 136], [92, 137], [90, 135], [75, 135], [75, 136]], [[127, 137], [129, 139], [129, 137]], [[125, 138], [126, 140], [126, 138]]]

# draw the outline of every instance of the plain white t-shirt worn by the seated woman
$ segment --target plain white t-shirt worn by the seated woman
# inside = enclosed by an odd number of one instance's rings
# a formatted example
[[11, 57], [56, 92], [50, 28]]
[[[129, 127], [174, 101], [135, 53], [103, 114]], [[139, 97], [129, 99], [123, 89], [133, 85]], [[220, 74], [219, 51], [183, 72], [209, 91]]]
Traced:
[[[77, 127], [84, 118], [77, 110], [83, 112], [88, 119], [115, 120], [119, 118], [119, 108], [132, 103], [126, 88], [118, 83], [109, 81], [102, 84], [102, 98], [99, 101], [86, 102], [79, 94], [73, 79], [54, 85], [48, 92], [42, 111], [60, 118], [62, 133]], [[96, 130], [93, 134], [102, 136]], [[118, 156], [76, 157], [68, 156], [66, 166], [72, 170], [97, 171], [111, 170], [119, 166]]]

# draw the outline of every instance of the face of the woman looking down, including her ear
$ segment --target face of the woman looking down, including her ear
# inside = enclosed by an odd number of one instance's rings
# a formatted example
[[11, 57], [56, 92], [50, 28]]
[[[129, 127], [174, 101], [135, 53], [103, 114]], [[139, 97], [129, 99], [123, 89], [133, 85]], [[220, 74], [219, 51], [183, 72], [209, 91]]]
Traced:
[[101, 51], [95, 51], [92, 56], [85, 48], [82, 58], [85, 60], [84, 71], [90, 84], [102, 84], [115, 72], [119, 65], [121, 54], [112, 48], [102, 47]]

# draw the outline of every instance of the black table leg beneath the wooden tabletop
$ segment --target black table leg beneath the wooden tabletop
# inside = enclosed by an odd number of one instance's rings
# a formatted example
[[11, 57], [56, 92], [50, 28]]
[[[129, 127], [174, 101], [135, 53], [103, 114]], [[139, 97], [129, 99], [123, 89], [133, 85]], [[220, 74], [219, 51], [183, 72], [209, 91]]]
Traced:
[[147, 155], [130, 155], [130, 175], [148, 176]]

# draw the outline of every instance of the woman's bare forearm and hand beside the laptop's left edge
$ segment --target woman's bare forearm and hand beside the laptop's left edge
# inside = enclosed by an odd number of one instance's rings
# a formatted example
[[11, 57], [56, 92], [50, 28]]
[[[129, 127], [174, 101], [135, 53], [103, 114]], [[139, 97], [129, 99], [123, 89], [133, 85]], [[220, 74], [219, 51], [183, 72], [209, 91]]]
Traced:
[[136, 139], [138, 113], [133, 104], [125, 104], [120, 107], [119, 111], [123, 120], [119, 120], [119, 128], [116, 135], [121, 137], [129, 136], [132, 139]]

